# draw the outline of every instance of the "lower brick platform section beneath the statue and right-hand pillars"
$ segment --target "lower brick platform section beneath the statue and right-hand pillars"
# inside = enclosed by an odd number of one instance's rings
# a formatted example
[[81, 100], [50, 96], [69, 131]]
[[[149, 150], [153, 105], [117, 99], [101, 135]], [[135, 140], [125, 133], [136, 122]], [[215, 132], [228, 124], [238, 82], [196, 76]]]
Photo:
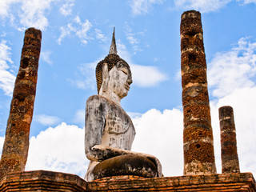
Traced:
[[198, 191], [254, 192], [255, 181], [250, 173], [208, 174], [166, 178], [134, 178], [118, 176], [88, 182], [90, 191]]

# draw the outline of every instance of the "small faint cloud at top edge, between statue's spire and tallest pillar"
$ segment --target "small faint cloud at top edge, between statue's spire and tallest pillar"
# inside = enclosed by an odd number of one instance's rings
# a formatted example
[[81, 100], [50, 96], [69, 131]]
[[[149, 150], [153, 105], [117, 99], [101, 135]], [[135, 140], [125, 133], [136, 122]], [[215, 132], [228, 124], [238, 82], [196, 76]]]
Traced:
[[147, 14], [154, 4], [161, 4], [163, 0], [130, 0], [130, 7], [134, 15]]

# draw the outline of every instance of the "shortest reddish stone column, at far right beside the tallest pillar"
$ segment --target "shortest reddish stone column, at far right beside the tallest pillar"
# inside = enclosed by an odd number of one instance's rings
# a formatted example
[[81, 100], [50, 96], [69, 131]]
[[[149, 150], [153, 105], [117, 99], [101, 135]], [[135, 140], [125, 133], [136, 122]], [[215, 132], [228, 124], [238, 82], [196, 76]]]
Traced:
[[233, 108], [222, 106], [218, 109], [218, 116], [221, 128], [222, 174], [240, 173]]

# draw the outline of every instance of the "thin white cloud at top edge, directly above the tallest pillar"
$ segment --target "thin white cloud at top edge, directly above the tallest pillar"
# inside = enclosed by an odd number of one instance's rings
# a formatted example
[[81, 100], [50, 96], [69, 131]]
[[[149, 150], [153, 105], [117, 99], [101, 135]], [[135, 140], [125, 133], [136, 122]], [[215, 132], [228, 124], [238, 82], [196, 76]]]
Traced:
[[174, 0], [176, 7], [182, 10], [199, 10], [202, 13], [219, 10], [232, 0]]

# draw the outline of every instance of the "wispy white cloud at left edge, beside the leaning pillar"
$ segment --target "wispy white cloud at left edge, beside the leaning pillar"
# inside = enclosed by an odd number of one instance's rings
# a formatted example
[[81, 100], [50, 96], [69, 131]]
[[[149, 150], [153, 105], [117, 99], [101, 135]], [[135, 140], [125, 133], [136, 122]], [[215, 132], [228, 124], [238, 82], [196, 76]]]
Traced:
[[12, 95], [15, 82], [15, 76], [9, 71], [10, 66], [8, 65], [8, 63], [13, 63], [10, 58], [10, 50], [7, 42], [2, 40], [0, 42], [0, 89], [8, 96]]

